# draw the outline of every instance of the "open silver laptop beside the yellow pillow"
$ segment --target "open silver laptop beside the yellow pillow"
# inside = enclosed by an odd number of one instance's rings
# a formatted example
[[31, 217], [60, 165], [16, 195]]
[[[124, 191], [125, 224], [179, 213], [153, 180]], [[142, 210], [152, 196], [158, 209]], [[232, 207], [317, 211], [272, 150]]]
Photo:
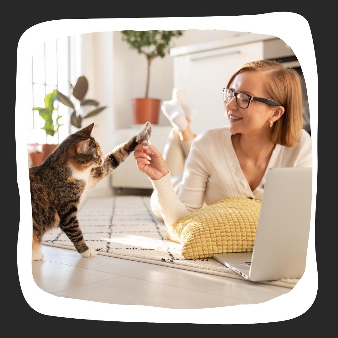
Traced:
[[305, 271], [312, 168], [271, 168], [264, 186], [253, 252], [213, 255], [251, 281], [300, 278]]

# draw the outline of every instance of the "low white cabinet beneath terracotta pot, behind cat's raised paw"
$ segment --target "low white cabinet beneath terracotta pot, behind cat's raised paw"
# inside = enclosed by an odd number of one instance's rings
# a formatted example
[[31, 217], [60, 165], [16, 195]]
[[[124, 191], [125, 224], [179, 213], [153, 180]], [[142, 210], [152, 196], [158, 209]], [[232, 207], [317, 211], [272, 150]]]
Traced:
[[[116, 129], [113, 135], [113, 144], [117, 145], [130, 140], [141, 130], [141, 126], [142, 125], [127, 129]], [[150, 141], [161, 154], [163, 154], [171, 128], [171, 126], [151, 126]], [[113, 171], [111, 175], [111, 185], [114, 188], [152, 189], [148, 176], [137, 168], [133, 153]]]

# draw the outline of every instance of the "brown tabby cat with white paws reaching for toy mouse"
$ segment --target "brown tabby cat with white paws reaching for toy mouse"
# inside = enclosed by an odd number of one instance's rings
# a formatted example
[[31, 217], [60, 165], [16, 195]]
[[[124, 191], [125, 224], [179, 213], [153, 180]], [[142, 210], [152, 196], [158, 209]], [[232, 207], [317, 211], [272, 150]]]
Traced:
[[129, 141], [118, 145], [107, 156], [91, 137], [94, 123], [68, 136], [39, 166], [29, 168], [33, 216], [32, 261], [44, 258], [40, 251], [43, 235], [60, 227], [82, 257], [92, 257], [83, 239], [77, 210], [84, 192], [110, 174], [134, 151], [137, 144], [147, 140], [151, 125]]

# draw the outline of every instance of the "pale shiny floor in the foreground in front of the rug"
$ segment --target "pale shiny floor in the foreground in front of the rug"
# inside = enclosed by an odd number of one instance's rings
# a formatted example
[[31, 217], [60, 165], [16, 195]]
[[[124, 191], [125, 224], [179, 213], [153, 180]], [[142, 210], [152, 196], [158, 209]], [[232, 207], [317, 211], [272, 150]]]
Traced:
[[32, 262], [35, 283], [56, 296], [112, 304], [176, 309], [262, 303], [291, 289], [42, 246], [44, 260]]

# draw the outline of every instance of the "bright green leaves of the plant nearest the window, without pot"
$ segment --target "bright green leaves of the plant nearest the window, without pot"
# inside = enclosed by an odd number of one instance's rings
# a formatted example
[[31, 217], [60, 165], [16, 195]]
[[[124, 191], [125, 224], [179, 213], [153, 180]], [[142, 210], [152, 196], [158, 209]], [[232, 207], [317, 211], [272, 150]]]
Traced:
[[51, 93], [47, 94], [44, 98], [45, 107], [33, 107], [32, 110], [39, 111], [39, 115], [45, 120], [45, 125], [41, 128], [46, 131], [47, 135], [54, 136], [55, 131], [59, 129], [63, 124], [59, 124], [59, 119], [62, 116], [58, 116], [54, 123], [53, 121], [53, 111], [57, 109], [54, 107], [54, 101], [57, 99], [57, 90], [53, 90]]

